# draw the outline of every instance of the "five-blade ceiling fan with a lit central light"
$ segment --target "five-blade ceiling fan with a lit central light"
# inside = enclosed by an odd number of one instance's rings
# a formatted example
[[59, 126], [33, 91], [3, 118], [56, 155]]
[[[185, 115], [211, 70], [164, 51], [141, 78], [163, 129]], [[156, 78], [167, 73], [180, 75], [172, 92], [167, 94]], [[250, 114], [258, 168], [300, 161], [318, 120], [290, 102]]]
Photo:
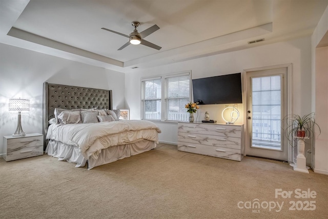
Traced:
[[110, 30], [110, 29], [107, 29], [107, 28], [104, 28], [104, 27], [102, 27], [101, 29], [107, 30], [107, 31], [110, 31], [110, 32], [113, 32], [113, 33], [116, 33], [116, 34], [119, 34], [121, 36], [128, 37], [130, 39], [129, 42], [127, 42], [126, 44], [121, 46], [118, 50], [122, 50], [122, 49], [126, 48], [127, 46], [129, 46], [130, 44], [134, 44], [134, 45], [142, 44], [142, 45], [151, 47], [153, 49], [157, 49], [157, 50], [161, 49], [160, 46], [157, 46], [157, 45], [152, 44], [148, 41], [145, 41], [145, 39], [144, 39], [146, 36], [152, 34], [153, 32], [155, 32], [156, 30], [159, 29], [159, 27], [157, 25], [154, 25], [154, 26], [142, 31], [141, 33], [138, 33], [137, 27], [140, 25], [140, 23], [139, 22], [132, 22], [131, 24], [134, 27], [134, 30], [133, 30], [132, 33], [130, 33], [130, 35], [119, 33], [119, 32], [116, 32], [114, 30]]

